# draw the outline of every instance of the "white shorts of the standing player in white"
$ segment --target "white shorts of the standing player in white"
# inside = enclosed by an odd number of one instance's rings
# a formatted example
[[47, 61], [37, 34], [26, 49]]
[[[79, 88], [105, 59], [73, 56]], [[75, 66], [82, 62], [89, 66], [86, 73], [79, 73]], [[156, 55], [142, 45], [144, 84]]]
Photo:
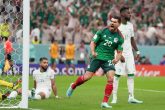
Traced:
[[133, 55], [124, 56], [124, 58], [125, 58], [124, 63], [119, 61], [115, 65], [116, 74], [117, 75], [135, 74], [136, 69], [135, 69], [135, 61]]

